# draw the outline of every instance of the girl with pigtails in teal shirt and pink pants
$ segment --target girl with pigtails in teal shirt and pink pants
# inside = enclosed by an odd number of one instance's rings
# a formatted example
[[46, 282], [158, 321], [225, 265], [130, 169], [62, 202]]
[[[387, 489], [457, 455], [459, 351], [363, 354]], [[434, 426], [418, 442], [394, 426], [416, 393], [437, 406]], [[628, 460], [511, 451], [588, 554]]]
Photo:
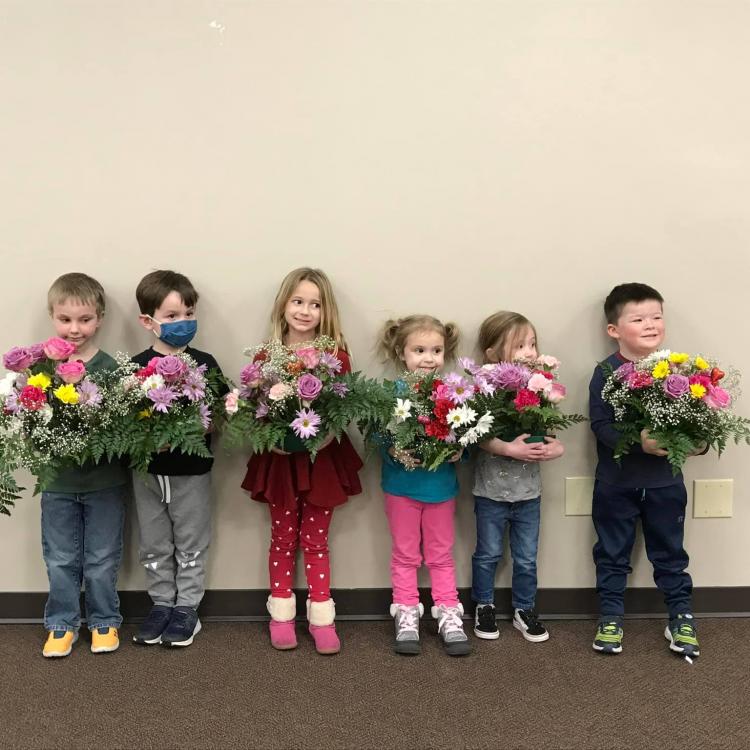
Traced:
[[[438, 373], [446, 358], [453, 358], [457, 346], [456, 326], [429, 315], [389, 320], [379, 342], [386, 360], [425, 375]], [[386, 436], [381, 439], [388, 440]], [[396, 627], [394, 650], [399, 654], [420, 652], [419, 618], [424, 607], [419, 601], [417, 571], [422, 553], [432, 582], [432, 616], [438, 621], [446, 653], [464, 656], [472, 650], [461, 620], [463, 607], [458, 600], [453, 560], [458, 492], [455, 462], [460, 456], [457, 446], [448, 461], [427, 471], [420, 468], [412, 451], [383, 445], [381, 484], [392, 542], [390, 613]]]

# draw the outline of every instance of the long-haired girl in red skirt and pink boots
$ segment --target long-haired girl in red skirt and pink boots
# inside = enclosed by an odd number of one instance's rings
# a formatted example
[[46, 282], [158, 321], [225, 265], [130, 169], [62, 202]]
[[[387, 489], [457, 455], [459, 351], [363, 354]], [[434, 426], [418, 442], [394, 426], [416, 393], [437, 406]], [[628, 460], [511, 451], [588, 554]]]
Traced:
[[[317, 336], [336, 341], [334, 354], [341, 362], [341, 372], [349, 372], [351, 365], [331, 282], [319, 269], [297, 268], [286, 276], [276, 295], [271, 338], [297, 349]], [[280, 448], [254, 454], [248, 461], [242, 487], [254, 500], [268, 503], [271, 512], [271, 594], [266, 606], [274, 648], [285, 650], [297, 645], [292, 582], [300, 544], [307, 577], [307, 619], [315, 648], [320, 654], [335, 654], [341, 647], [331, 599], [328, 528], [333, 509], [362, 491], [358, 477], [361, 468], [362, 460], [346, 434], [340, 442], [329, 438], [314, 462], [306, 451], [288, 453]]]

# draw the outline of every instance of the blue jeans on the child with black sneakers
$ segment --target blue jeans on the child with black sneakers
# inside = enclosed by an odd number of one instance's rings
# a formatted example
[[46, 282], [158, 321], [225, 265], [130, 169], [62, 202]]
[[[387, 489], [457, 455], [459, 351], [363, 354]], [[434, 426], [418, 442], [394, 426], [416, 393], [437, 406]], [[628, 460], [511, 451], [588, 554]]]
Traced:
[[515, 503], [474, 497], [477, 548], [471, 557], [471, 598], [477, 604], [494, 603], [495, 572], [503, 557], [505, 527], [510, 525], [513, 607], [534, 609], [540, 504], [539, 497]]

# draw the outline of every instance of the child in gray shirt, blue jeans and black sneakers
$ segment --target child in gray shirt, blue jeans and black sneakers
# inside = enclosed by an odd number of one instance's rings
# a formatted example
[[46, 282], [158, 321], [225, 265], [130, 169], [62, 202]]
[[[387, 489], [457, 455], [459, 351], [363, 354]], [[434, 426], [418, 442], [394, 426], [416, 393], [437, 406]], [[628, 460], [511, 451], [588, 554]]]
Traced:
[[[480, 326], [478, 345], [487, 364], [520, 361], [533, 368], [537, 363], [536, 330], [519, 313], [502, 311], [487, 318]], [[529, 433], [509, 440], [495, 437], [479, 446], [474, 467], [477, 546], [471, 560], [474, 635], [478, 638], [500, 636], [494, 605], [495, 573], [503, 556], [506, 527], [513, 557], [513, 625], [527, 641], [549, 638], [535, 611], [542, 491], [539, 463], [559, 458], [563, 446], [549, 435], [540, 442], [526, 442], [530, 437]]]

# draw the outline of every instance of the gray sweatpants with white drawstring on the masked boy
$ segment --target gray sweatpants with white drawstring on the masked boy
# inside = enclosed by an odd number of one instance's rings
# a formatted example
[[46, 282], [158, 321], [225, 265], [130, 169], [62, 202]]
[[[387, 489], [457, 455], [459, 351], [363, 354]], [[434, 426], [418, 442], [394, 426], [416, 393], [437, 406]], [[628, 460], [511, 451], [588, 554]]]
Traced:
[[154, 604], [200, 604], [211, 540], [211, 473], [133, 474], [139, 557]]

